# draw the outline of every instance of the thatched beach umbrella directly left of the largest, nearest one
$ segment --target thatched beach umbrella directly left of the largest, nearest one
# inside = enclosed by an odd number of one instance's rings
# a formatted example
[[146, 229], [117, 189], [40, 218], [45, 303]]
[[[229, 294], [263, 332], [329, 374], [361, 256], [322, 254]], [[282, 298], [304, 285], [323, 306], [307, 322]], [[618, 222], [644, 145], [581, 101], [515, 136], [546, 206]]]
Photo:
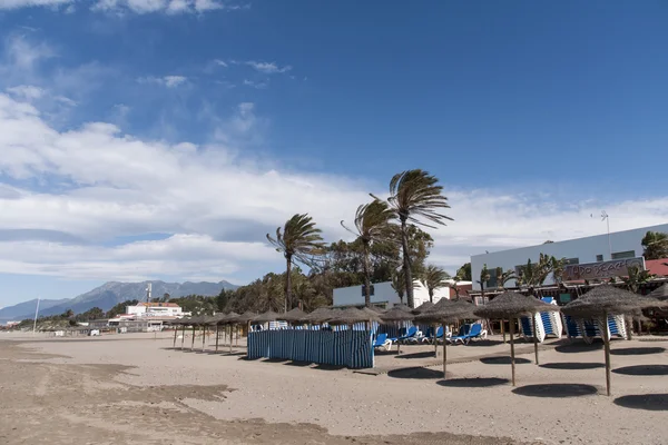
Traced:
[[534, 297], [528, 297], [514, 291], [504, 291], [494, 297], [484, 306], [478, 307], [473, 313], [482, 318], [498, 318], [510, 320], [510, 362], [512, 366], [512, 385], [515, 384], [514, 372], [514, 318], [529, 316], [533, 320], [533, 349], [538, 365], [538, 335], [536, 329], [536, 313], [558, 312], [559, 307], [548, 305]]

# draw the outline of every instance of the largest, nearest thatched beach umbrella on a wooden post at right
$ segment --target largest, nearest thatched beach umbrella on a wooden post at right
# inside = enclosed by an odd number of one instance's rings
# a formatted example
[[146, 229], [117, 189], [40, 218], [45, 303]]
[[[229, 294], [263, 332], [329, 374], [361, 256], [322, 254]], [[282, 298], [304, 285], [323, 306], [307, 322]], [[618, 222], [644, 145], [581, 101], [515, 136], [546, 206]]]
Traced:
[[668, 301], [644, 297], [611, 285], [601, 285], [589, 290], [561, 310], [566, 315], [578, 318], [597, 318], [603, 336], [606, 350], [606, 389], [610, 395], [610, 335], [608, 333], [608, 316], [633, 314], [645, 308], [666, 307]]

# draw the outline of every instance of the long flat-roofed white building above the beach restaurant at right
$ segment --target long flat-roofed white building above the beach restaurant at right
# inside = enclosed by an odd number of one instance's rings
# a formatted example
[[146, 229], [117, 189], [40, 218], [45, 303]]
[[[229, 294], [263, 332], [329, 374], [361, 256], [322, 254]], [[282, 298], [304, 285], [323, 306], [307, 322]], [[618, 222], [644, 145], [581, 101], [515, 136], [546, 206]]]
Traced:
[[[566, 241], [474, 255], [471, 257], [471, 276], [474, 281], [480, 279], [480, 271], [483, 266], [487, 265], [491, 279], [485, 283], [485, 288], [495, 288], [495, 269], [498, 267], [501, 267], [504, 271], [509, 269], [517, 271], [520, 266], [525, 266], [529, 259], [531, 259], [531, 263], [536, 264], [540, 254], [554, 256], [557, 258], [566, 258], [568, 265], [584, 265], [638, 258], [642, 256], [642, 245], [640, 241], [649, 230], [668, 233], [668, 224], [616, 231], [611, 233], [609, 237], [605, 234], [587, 238], [569, 239]], [[640, 261], [641, 260], [639, 260], [638, 264], [640, 264]], [[546, 280], [546, 284], [552, 284], [551, 280], [552, 277], [549, 277], [548, 280]], [[514, 280], [507, 283], [507, 286], [515, 286]], [[474, 288], [479, 289], [480, 285], [477, 284]]]

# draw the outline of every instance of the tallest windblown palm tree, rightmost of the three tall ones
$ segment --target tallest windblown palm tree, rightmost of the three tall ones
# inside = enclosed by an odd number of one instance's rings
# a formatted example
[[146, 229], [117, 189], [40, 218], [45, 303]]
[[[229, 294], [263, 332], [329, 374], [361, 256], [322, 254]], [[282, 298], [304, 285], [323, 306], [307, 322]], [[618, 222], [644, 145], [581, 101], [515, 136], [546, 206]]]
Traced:
[[448, 198], [441, 195], [443, 187], [439, 186], [438, 182], [439, 179], [435, 176], [421, 169], [402, 171], [394, 175], [390, 181], [390, 198], [387, 201], [401, 222], [401, 245], [409, 307], [414, 307], [409, 222], [434, 228], [428, 222], [444, 226], [445, 220], [452, 220], [452, 218], [438, 211], [439, 209], [450, 208]]

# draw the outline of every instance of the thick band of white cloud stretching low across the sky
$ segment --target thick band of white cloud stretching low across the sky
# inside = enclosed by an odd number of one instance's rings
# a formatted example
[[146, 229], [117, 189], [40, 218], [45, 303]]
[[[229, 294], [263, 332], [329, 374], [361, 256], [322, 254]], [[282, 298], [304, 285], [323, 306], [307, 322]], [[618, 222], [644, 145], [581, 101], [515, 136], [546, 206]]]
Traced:
[[[240, 103], [222, 128], [253, 135], [256, 107]], [[369, 191], [381, 194], [386, 187], [265, 167], [227, 145], [143, 140], [106, 122], [61, 131], [36, 106], [2, 93], [0, 152], [0, 174], [12, 178], [12, 185], [0, 182], [0, 234], [63, 234], [62, 243], [0, 241], [0, 273], [239, 281], [282, 268], [281, 256], [264, 244], [264, 236], [293, 214], [310, 212], [328, 240], [348, 237], [338, 221], [350, 221], [357, 205], [370, 199]], [[45, 177], [63, 186], [58, 191], [20, 186]], [[500, 189], [451, 189], [446, 195], [452, 206], [448, 214], [455, 220], [432, 231], [436, 245], [430, 260], [451, 271], [485, 249], [601, 234], [601, 222], [589, 215], [603, 205], [613, 230], [668, 220], [668, 197], [592, 202]], [[101, 245], [155, 233], [174, 235]], [[89, 244], [70, 245], [68, 237]]]

